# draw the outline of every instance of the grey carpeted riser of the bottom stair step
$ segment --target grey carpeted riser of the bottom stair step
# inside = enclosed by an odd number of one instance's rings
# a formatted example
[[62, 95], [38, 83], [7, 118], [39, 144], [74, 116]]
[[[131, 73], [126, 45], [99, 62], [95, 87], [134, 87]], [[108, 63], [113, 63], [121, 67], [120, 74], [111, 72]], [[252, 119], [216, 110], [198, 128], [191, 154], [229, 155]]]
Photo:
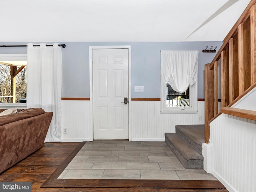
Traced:
[[168, 138], [165, 138], [166, 144], [170, 147], [172, 152], [176, 155], [178, 160], [180, 160], [181, 164], [186, 168], [186, 169], [203, 169], [203, 160], [186, 160], [180, 152], [176, 149], [174, 145], [172, 145], [172, 142], [168, 140]]

